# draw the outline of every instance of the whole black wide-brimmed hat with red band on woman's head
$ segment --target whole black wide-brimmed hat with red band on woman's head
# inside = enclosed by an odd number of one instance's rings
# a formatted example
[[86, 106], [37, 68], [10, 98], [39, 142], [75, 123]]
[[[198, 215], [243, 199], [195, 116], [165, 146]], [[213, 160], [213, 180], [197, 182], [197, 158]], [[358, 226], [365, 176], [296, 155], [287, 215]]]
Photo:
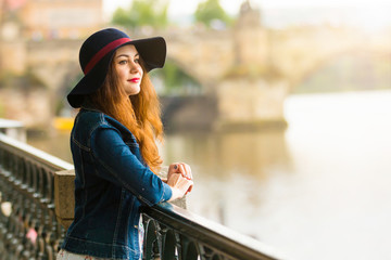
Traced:
[[114, 52], [126, 44], [136, 47], [147, 72], [164, 66], [166, 43], [162, 37], [131, 40], [118, 29], [99, 30], [80, 48], [79, 63], [85, 76], [67, 95], [73, 107], [80, 107], [85, 95], [93, 93], [102, 86]]

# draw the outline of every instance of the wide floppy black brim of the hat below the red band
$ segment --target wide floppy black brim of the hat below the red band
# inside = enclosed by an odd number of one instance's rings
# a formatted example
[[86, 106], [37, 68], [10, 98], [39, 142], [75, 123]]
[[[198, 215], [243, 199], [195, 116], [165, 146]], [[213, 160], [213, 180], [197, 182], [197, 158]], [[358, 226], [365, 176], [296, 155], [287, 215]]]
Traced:
[[72, 107], [80, 107], [85, 95], [96, 92], [102, 86], [113, 54], [121, 47], [129, 44], [136, 47], [138, 53], [144, 62], [147, 73], [154, 68], [161, 68], [164, 66], [166, 58], [166, 43], [163, 37], [133, 40], [121, 44], [110, 51], [101, 61], [99, 61], [97, 65], [90, 72], [88, 72], [72, 89], [67, 95], [67, 101]]

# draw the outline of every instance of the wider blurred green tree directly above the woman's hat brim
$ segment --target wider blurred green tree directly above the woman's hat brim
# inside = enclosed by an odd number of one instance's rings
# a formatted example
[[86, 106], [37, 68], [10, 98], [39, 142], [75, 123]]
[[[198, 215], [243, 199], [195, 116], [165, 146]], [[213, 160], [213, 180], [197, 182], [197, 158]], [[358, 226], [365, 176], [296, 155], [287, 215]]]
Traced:
[[112, 23], [135, 29], [142, 26], [164, 28], [168, 24], [168, 0], [134, 0], [129, 9], [118, 8]]

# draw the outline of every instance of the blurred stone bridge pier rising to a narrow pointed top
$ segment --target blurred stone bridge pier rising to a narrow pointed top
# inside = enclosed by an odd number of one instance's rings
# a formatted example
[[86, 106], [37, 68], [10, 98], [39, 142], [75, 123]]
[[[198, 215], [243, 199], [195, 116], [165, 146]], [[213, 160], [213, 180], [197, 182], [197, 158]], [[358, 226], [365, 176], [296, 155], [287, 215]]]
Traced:
[[272, 66], [269, 32], [261, 18], [249, 0], [242, 3], [232, 31], [234, 64], [217, 88], [217, 129], [286, 127], [288, 84]]

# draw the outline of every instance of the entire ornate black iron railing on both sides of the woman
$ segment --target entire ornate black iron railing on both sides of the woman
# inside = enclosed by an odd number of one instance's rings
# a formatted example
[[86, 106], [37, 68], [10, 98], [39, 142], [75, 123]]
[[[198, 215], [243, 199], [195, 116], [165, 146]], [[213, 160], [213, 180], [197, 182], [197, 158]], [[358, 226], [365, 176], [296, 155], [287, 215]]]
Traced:
[[[73, 194], [63, 194], [72, 188], [61, 188], [73, 185], [73, 177], [72, 165], [0, 133], [0, 259], [55, 259], [65, 234], [58, 220], [66, 225], [73, 216]], [[168, 203], [144, 207], [142, 217], [143, 259], [281, 259], [260, 242]]]

